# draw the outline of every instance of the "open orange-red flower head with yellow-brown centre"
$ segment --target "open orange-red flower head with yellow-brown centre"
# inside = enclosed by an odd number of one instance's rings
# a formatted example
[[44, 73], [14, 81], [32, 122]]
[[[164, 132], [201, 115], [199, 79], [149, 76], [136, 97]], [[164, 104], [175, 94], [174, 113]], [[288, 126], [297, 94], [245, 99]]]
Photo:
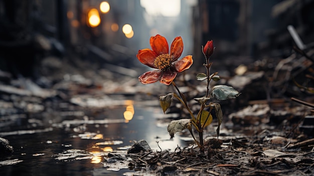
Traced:
[[176, 37], [172, 42], [169, 53], [169, 45], [165, 37], [156, 35], [149, 40], [151, 50], [146, 48], [138, 50], [137, 59], [150, 68], [158, 70], [148, 71], [138, 77], [143, 84], [160, 81], [170, 85], [176, 78], [177, 73], [189, 69], [193, 64], [192, 56], [186, 56], [178, 60], [183, 51], [183, 41], [181, 37]]

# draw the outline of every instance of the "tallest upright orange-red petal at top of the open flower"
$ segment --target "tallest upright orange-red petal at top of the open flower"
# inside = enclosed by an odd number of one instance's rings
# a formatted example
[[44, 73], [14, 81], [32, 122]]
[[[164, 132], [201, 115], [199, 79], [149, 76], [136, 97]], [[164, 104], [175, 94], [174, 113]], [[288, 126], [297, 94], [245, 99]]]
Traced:
[[165, 37], [158, 34], [155, 37], [150, 37], [149, 43], [152, 51], [157, 55], [169, 54], [169, 45]]

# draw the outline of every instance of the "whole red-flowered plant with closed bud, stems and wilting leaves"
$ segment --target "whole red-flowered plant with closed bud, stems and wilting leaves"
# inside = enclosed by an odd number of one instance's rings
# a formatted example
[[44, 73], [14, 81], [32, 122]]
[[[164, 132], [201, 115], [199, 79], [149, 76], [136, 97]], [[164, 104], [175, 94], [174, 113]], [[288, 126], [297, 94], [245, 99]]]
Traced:
[[[220, 78], [217, 75], [218, 72], [215, 72], [210, 75], [210, 68], [212, 66], [212, 62], [210, 62], [210, 57], [214, 52], [213, 41], [208, 41], [205, 47], [202, 46], [202, 52], [206, 59], [206, 63], [204, 64], [206, 68], [206, 74], [199, 73], [196, 76], [196, 79], [199, 81], [207, 80], [206, 83], [206, 94], [205, 97], [194, 98], [194, 100], [198, 101], [200, 104], [200, 109], [197, 113], [197, 116], [194, 115], [193, 111], [189, 107], [188, 101], [185, 95], [180, 91], [179, 87], [174, 82], [177, 74], [187, 70], [193, 64], [192, 56], [186, 56], [179, 60], [183, 52], [183, 41], [181, 37], [176, 37], [172, 42], [169, 52], [169, 45], [167, 40], [161, 36], [156, 35], [150, 38], [150, 49], [139, 50], [136, 55], [137, 59], [142, 63], [151, 67], [155, 70], [148, 71], [141, 76], [138, 77], [138, 80], [143, 84], [154, 83], [156, 81], [160, 81], [162, 84], [170, 85], [172, 84], [177, 90], [178, 94], [170, 93], [166, 96], [160, 97], [160, 102], [164, 113], [170, 107], [173, 97], [176, 97], [188, 110], [191, 119], [180, 119], [173, 120], [170, 122], [168, 126], [168, 131], [171, 138], [174, 137], [174, 134], [178, 131], [182, 131], [186, 128], [189, 129], [195, 143], [199, 146], [200, 151], [205, 154], [205, 146], [204, 146], [204, 130], [210, 125], [213, 121], [213, 116], [211, 114], [212, 110], [215, 109], [216, 117], [218, 118], [218, 128], [217, 128], [217, 137], [219, 137], [220, 125], [222, 122], [222, 111], [221, 107], [218, 103], [210, 102], [207, 104], [210, 97], [215, 97], [218, 100], [226, 100], [230, 98], [236, 98], [239, 96], [239, 92], [234, 90], [232, 87], [228, 87], [225, 85], [218, 85], [213, 87], [212, 91], [210, 91], [210, 82], [211, 80], [218, 81]], [[206, 110], [208, 109], [208, 110]], [[193, 133], [192, 126], [198, 132], [198, 139], [195, 137]]]

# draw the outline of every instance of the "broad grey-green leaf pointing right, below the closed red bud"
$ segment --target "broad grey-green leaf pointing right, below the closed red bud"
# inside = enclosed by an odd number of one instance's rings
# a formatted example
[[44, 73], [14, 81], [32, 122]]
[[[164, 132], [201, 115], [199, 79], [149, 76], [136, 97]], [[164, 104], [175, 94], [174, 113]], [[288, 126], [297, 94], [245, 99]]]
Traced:
[[227, 100], [231, 98], [236, 98], [240, 95], [233, 87], [226, 85], [217, 85], [213, 87], [211, 95], [218, 100]]

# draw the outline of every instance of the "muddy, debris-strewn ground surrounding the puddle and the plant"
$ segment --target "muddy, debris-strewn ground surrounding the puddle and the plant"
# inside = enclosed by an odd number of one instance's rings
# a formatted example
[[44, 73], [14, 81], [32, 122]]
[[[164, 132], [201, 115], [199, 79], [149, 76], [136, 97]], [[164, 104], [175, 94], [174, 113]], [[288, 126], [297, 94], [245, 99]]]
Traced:
[[[41, 63], [42, 76], [36, 81], [2, 73], [2, 134], [10, 132], [10, 125], [16, 125], [8, 119], [16, 117], [15, 114], [26, 116], [21, 119], [57, 117], [54, 112], [60, 108], [60, 103], [76, 112], [83, 111], [85, 115], [97, 114], [108, 104], [123, 104], [125, 99], [148, 100], [153, 102], [151, 106], [158, 107], [159, 96], [175, 91], [159, 83], [142, 85], [134, 76], [136, 74], [130, 76], [119, 72], [123, 67], [116, 67], [113, 72], [99, 69], [87, 61], [69, 62], [58, 58], [45, 58]], [[237, 99], [219, 101], [224, 114], [220, 136], [217, 139], [218, 122], [214, 120], [204, 133], [205, 154], [200, 153], [189, 131], [184, 130], [176, 133], [175, 138], [184, 140], [185, 146], [151, 149], [143, 142], [142, 148], [133, 151], [128, 146], [105, 152], [102, 156], [104, 167], [108, 170], [128, 168], [130, 172], [124, 175], [313, 175], [312, 62], [293, 53], [286, 59], [245, 60], [243, 65], [239, 64], [241, 58], [236, 62], [214, 62], [223, 63], [221, 71], [219, 67], [213, 67], [213, 71], [221, 73], [218, 84], [231, 85], [241, 95]], [[137, 75], [142, 70], [129, 69]], [[196, 70], [201, 69], [191, 69], [176, 78], [178, 86], [191, 99], [189, 103], [193, 109], [198, 108], [193, 97], [204, 94], [201, 88], [204, 85], [194, 80]], [[89, 101], [90, 97], [103, 95], [111, 98]], [[292, 97], [296, 100], [291, 100]], [[156, 123], [167, 126], [171, 120], [180, 118], [189, 116], [179, 102], [174, 102]], [[158, 131], [156, 133], [158, 136]]]

